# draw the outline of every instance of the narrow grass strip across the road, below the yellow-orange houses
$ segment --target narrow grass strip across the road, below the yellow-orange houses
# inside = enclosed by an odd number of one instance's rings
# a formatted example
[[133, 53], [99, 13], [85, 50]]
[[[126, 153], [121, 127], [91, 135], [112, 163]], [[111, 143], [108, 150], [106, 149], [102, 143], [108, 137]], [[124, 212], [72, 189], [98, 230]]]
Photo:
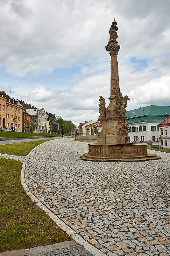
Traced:
[[0, 137], [37, 137], [37, 136], [61, 136], [60, 133], [34, 133], [34, 132], [0, 132]]

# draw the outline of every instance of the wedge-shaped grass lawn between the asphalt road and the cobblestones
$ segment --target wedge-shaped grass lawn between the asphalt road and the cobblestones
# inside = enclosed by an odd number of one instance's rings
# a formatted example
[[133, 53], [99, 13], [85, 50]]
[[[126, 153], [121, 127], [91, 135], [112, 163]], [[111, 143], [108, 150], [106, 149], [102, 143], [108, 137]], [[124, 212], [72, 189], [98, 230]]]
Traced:
[[29, 142], [0, 145], [0, 153], [14, 156], [26, 156], [33, 148], [45, 141], [48, 140], [35, 140]]

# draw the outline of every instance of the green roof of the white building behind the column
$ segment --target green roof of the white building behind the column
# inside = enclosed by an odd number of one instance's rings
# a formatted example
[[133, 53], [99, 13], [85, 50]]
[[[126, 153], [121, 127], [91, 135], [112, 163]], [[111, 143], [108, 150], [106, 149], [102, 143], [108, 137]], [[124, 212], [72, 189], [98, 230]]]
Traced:
[[127, 110], [125, 116], [128, 118], [128, 124], [155, 121], [162, 122], [170, 116], [170, 106], [146, 106], [133, 110]]

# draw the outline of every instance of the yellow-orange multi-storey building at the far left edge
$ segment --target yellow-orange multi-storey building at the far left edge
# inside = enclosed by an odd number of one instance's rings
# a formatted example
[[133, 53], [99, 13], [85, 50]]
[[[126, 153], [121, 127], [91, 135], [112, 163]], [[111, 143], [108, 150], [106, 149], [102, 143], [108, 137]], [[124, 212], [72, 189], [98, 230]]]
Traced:
[[11, 131], [11, 126], [15, 125], [13, 117], [16, 114], [17, 124], [15, 126], [16, 132], [22, 132], [23, 129], [23, 106], [18, 100], [5, 98], [0, 92], [0, 125], [5, 128], [5, 131]]

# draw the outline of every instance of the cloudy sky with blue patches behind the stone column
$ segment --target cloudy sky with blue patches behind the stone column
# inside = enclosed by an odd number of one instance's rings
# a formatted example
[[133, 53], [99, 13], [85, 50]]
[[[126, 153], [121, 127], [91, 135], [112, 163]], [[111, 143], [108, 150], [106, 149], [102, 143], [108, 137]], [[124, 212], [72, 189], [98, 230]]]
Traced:
[[0, 90], [74, 124], [110, 96], [109, 28], [118, 27], [127, 110], [170, 105], [170, 0], [0, 0]]

